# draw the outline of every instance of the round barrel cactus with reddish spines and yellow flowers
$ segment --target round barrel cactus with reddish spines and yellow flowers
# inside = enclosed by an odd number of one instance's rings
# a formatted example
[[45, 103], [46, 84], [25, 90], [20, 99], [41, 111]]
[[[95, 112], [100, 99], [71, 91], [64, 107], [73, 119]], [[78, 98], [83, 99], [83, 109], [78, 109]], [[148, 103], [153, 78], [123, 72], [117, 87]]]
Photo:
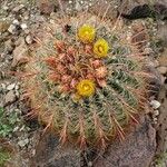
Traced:
[[56, 17], [37, 31], [22, 86], [32, 112], [80, 147], [125, 138], [144, 114], [149, 73], [121, 19]]

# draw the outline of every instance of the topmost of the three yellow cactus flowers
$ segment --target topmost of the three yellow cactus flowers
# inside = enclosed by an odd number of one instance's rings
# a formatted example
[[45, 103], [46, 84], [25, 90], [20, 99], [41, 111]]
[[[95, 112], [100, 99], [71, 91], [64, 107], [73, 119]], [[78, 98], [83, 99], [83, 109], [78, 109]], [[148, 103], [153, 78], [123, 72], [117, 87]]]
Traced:
[[78, 30], [78, 37], [84, 43], [92, 42], [96, 30], [94, 27], [85, 24]]

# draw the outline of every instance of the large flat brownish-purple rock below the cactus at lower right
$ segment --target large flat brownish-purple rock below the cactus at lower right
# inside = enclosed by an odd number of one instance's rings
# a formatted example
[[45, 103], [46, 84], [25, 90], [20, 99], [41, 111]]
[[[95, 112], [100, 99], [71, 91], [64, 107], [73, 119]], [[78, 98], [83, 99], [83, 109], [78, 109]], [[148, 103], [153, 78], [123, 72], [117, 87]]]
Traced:
[[156, 131], [146, 119], [124, 143], [114, 143], [95, 167], [148, 167], [155, 150]]

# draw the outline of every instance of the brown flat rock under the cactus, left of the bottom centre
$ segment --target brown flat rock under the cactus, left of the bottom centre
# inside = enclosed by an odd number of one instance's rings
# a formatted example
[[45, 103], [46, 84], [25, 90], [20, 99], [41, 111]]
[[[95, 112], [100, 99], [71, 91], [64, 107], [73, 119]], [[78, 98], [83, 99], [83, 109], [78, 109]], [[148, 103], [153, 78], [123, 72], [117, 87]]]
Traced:
[[41, 137], [30, 167], [79, 167], [79, 150], [60, 147], [59, 139], [51, 134]]

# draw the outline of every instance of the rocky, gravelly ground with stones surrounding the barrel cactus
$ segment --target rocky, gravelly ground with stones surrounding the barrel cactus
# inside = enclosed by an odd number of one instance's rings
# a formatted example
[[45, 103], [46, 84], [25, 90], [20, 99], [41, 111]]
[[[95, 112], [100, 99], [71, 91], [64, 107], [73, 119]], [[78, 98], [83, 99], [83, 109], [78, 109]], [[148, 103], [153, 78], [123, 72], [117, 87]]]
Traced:
[[[102, 1], [102, 2], [101, 2]], [[101, 0], [62, 1], [66, 12], [90, 8], [98, 13], [108, 6]], [[107, 17], [119, 13], [127, 24], [143, 21], [148, 28], [150, 41], [145, 47], [151, 66], [160, 77], [149, 102], [147, 117], [134, 129], [126, 143], [116, 141], [106, 153], [89, 148], [60, 148], [58, 139], [42, 127], [36, 118], [27, 119], [29, 107], [22, 98], [20, 81], [14, 77], [19, 65], [27, 61], [32, 33], [46, 21], [52, 21], [61, 6], [57, 0], [2, 0], [0, 1], [0, 166], [8, 167], [166, 167], [167, 166], [167, 1], [110, 0]], [[96, 3], [96, 7], [94, 4]], [[147, 3], [147, 6], [145, 4]], [[150, 7], [150, 8], [147, 8]], [[149, 9], [149, 10], [148, 10]], [[143, 11], [143, 12], [141, 12]], [[154, 13], [154, 14], [153, 14]], [[12, 71], [12, 72], [11, 72]], [[157, 94], [159, 91], [159, 94]], [[151, 111], [150, 111], [151, 110]], [[10, 153], [4, 155], [4, 150]], [[7, 160], [6, 160], [7, 159]], [[2, 161], [2, 163], [1, 163]]]

